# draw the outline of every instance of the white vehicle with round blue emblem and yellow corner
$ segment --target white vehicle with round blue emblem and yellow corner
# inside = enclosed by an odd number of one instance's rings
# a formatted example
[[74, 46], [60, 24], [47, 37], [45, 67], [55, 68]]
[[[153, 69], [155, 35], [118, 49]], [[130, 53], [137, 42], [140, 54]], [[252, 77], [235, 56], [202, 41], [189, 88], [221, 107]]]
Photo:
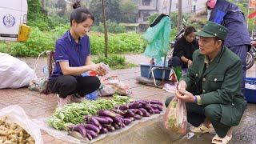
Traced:
[[0, 41], [26, 41], [30, 26], [26, 26], [26, 0], [1, 0], [0, 2]]

